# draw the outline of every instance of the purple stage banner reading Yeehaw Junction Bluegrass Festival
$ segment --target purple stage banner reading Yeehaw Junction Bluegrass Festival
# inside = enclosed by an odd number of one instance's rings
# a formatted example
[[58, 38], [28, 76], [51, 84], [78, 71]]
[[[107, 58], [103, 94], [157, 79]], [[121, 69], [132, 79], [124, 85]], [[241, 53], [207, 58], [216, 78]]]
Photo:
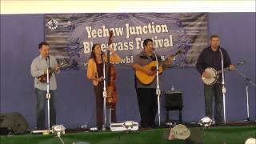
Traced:
[[162, 59], [182, 50], [172, 65], [182, 68], [195, 65], [208, 41], [206, 13], [45, 14], [45, 40], [64, 70], [86, 69], [91, 47], [99, 43], [105, 51], [110, 30], [122, 58], [117, 68], [131, 67], [146, 38]]

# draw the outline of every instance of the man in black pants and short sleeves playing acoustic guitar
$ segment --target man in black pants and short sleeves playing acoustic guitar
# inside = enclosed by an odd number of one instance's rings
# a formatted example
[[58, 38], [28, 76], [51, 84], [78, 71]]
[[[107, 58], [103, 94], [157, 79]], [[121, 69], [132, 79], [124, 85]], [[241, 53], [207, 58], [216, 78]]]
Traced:
[[[138, 108], [141, 115], [141, 128], [154, 128], [156, 125], [154, 123], [155, 114], [157, 112], [157, 95], [156, 95], [156, 64], [154, 66], [150, 65], [150, 62], [154, 63], [156, 58], [153, 53], [154, 42], [152, 39], [147, 38], [143, 42], [144, 50], [137, 54], [134, 58], [133, 67], [135, 70], [135, 89], [138, 98]], [[157, 55], [158, 61], [161, 61], [159, 55]], [[164, 62], [165, 65], [170, 65], [172, 58], [167, 58], [168, 61]], [[162, 63], [162, 62], [160, 62]], [[160, 69], [159, 69], [160, 70]], [[149, 78], [142, 76], [139, 80], [139, 75], [145, 74]], [[152, 77], [152, 82], [147, 82], [148, 79]], [[142, 79], [145, 78], [145, 82]]]

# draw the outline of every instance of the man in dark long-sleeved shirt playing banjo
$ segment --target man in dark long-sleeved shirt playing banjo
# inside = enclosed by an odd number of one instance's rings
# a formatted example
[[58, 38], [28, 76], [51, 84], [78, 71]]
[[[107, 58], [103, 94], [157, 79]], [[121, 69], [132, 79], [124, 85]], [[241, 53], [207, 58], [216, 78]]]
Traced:
[[[230, 67], [230, 70], [234, 70], [234, 65], [231, 65], [230, 56], [226, 50], [219, 46], [219, 37], [217, 34], [210, 36], [210, 46], [202, 50], [202, 53], [198, 57], [196, 68], [202, 75], [204, 84], [205, 95], [205, 112], [206, 117], [213, 118], [212, 103], [213, 98], [215, 101], [214, 106], [214, 120], [215, 123], [222, 124], [222, 73], [216, 74], [216, 76], [210, 73], [210, 70], [222, 70], [222, 55], [224, 68]], [[221, 55], [222, 51], [222, 55]], [[211, 82], [210, 80], [213, 79]]]

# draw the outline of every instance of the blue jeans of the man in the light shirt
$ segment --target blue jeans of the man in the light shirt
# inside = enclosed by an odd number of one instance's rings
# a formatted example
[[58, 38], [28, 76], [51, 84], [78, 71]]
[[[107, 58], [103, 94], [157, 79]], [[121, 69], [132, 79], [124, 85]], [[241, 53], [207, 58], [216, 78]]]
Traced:
[[[35, 89], [35, 94], [37, 96], [37, 128], [41, 130], [45, 129], [45, 108], [46, 110], [48, 110], [48, 108], [46, 107], [46, 105], [48, 105], [46, 93], [46, 90]], [[50, 90], [50, 127], [56, 125], [56, 110], [54, 106], [54, 98], [54, 90]]]

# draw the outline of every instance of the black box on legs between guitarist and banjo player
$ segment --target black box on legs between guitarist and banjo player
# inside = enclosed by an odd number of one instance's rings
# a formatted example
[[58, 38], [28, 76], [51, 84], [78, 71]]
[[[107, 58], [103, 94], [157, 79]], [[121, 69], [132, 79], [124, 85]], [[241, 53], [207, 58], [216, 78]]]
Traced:
[[182, 109], [182, 92], [178, 90], [166, 90], [166, 108], [170, 110]]

